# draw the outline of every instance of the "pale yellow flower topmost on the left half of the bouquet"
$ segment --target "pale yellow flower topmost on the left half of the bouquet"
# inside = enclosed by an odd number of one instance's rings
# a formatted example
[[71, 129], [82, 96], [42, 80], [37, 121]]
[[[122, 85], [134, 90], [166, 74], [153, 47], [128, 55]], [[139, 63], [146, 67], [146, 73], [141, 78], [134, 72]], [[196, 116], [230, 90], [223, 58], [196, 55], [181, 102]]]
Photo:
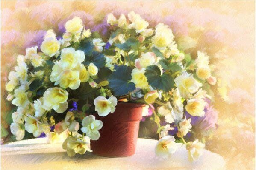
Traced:
[[72, 20], [68, 20], [65, 24], [66, 32], [73, 34], [79, 33], [82, 31], [82, 20], [80, 17], [74, 17]]

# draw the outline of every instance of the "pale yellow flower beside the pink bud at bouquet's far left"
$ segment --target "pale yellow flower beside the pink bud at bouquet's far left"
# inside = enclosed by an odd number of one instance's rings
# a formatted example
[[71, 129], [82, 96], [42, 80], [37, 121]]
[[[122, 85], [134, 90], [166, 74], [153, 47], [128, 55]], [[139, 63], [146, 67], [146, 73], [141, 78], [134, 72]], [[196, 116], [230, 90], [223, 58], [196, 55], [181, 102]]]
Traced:
[[14, 91], [14, 97], [15, 98], [12, 100], [13, 105], [20, 106], [22, 108], [29, 105], [28, 92], [26, 92], [24, 85]]

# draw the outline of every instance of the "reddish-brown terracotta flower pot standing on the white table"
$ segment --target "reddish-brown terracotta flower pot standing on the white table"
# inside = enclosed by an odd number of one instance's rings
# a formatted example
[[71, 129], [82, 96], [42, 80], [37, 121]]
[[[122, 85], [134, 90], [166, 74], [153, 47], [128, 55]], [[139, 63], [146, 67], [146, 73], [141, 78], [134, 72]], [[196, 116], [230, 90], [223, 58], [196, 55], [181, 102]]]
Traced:
[[91, 150], [99, 156], [131, 156], [135, 153], [138, 129], [142, 119], [141, 103], [119, 102], [114, 113], [105, 117], [96, 115], [103, 122], [100, 138], [91, 140]]

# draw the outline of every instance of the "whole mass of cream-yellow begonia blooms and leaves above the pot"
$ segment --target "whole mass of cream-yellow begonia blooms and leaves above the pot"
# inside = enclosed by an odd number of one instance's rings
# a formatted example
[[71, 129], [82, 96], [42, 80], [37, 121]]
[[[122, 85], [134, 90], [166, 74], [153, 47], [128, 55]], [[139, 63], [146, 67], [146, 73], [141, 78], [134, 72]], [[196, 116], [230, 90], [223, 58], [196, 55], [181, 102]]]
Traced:
[[17, 107], [12, 134], [16, 140], [25, 130], [34, 137], [46, 134], [50, 142], [63, 139], [68, 156], [84, 154], [92, 151], [88, 139], [98, 140], [104, 127], [95, 114], [115, 114], [119, 102], [144, 103], [144, 116], [152, 115], [158, 127], [156, 156], [171, 156], [176, 141], [196, 160], [204, 140], [186, 136], [192, 125], [208, 129], [216, 123], [209, 123], [210, 85], [216, 78], [208, 56], [198, 51], [192, 59], [178, 49], [168, 26], [149, 28], [134, 12], [118, 19], [108, 14], [107, 23], [103, 36], [74, 17], [65, 23], [62, 37], [48, 30], [40, 46], [18, 55], [6, 84], [7, 99]]

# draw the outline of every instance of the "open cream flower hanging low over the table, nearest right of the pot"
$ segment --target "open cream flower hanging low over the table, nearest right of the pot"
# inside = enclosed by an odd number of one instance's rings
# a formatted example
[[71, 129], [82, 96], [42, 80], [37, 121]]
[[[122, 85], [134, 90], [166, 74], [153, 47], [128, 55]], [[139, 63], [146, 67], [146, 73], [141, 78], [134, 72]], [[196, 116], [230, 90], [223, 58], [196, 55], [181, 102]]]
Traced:
[[177, 149], [174, 136], [165, 136], [156, 144], [155, 153], [157, 157], [168, 158]]

